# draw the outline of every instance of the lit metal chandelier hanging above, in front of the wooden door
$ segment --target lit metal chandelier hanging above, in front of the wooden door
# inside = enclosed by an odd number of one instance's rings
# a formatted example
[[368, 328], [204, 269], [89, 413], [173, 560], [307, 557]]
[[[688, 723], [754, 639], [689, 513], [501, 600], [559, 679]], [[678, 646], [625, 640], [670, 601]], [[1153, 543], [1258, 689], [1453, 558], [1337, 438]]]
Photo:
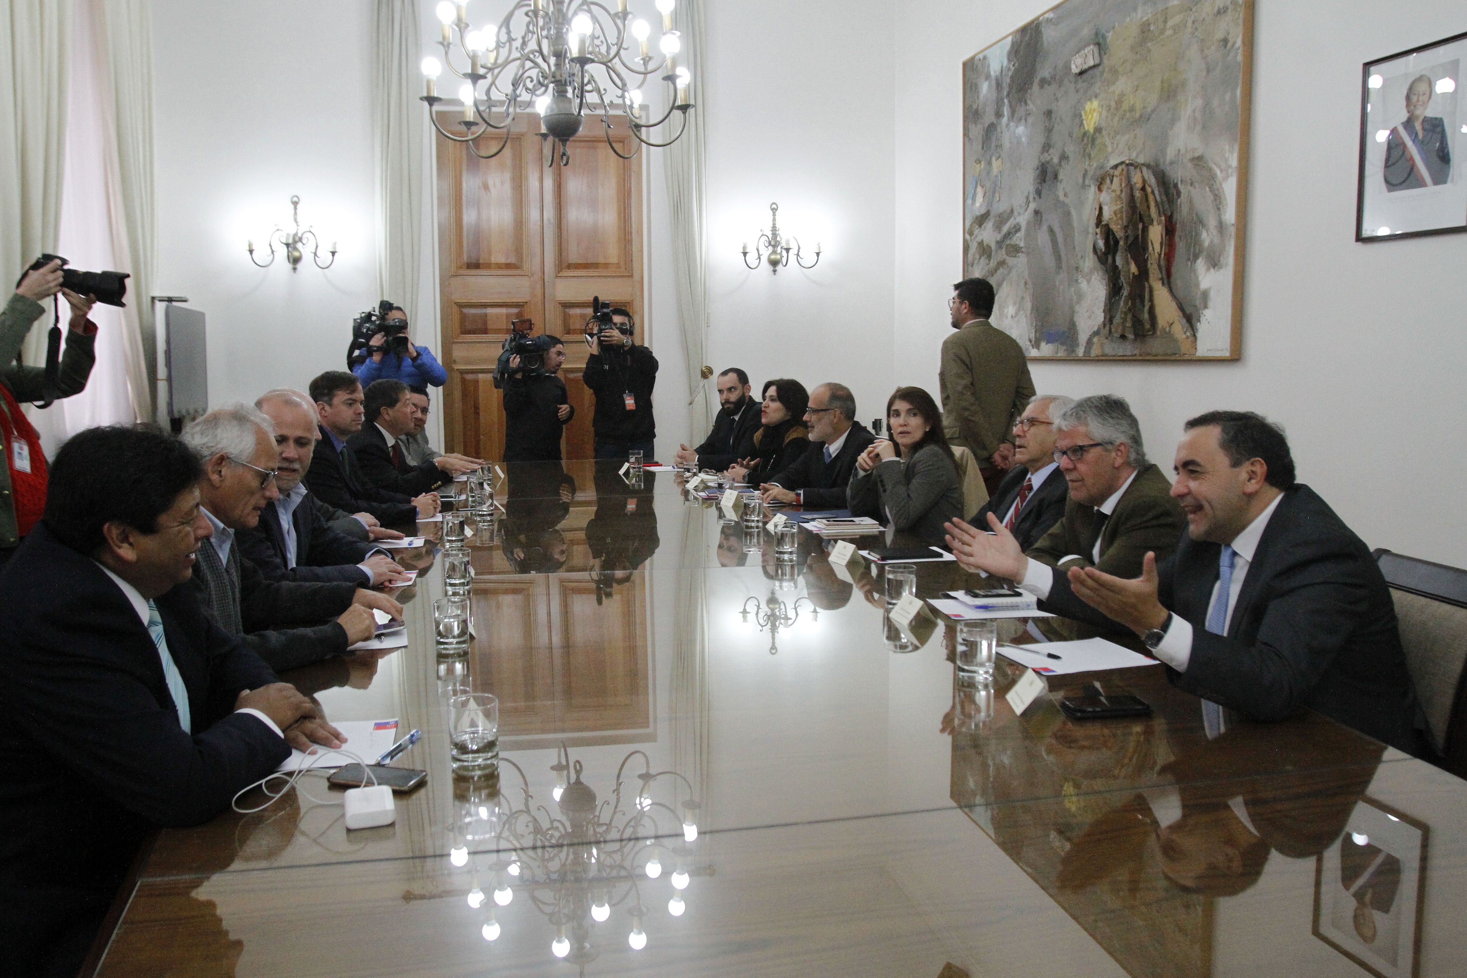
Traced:
[[[462, 135], [446, 130], [433, 107], [443, 101], [437, 94], [437, 79], [445, 65], [436, 57], [422, 59], [422, 73], [427, 76], [427, 94], [421, 101], [428, 104], [428, 119], [433, 128], [453, 142], [464, 142], [468, 150], [489, 160], [499, 155], [509, 144], [509, 132], [515, 116], [534, 109], [540, 114], [540, 136], [555, 138], [560, 144], [560, 166], [571, 161], [568, 144], [581, 132], [585, 114], [601, 117], [606, 144], [612, 152], [629, 160], [643, 145], [667, 147], [682, 136], [688, 128], [691, 73], [679, 67], [678, 53], [682, 37], [672, 29], [672, 9], [676, 0], [657, 0], [662, 13], [662, 38], [657, 43], [659, 57], [651, 56], [648, 45], [651, 28], [643, 19], [632, 19], [626, 0], [616, 0], [616, 12], [597, 0], [518, 0], [499, 28], [471, 29], [468, 4], [453, 4], [443, 0], [437, 6], [443, 22], [443, 60], [450, 72], [464, 79], [459, 101], [464, 103]], [[516, 29], [518, 21], [518, 34]], [[629, 54], [628, 34], [635, 38], [638, 54]], [[453, 66], [455, 48], [459, 62], [468, 63], [468, 70]], [[640, 85], [648, 78], [660, 78], [667, 84], [667, 109], [657, 119], [651, 117]], [[625, 113], [628, 129], [637, 138], [631, 152], [622, 152], [612, 141], [613, 113]], [[662, 126], [678, 113], [678, 130], [672, 138], [657, 141], [651, 130]], [[490, 130], [502, 133], [490, 136], [490, 148], [481, 152], [480, 136]], [[555, 164], [552, 154], [550, 163]]]

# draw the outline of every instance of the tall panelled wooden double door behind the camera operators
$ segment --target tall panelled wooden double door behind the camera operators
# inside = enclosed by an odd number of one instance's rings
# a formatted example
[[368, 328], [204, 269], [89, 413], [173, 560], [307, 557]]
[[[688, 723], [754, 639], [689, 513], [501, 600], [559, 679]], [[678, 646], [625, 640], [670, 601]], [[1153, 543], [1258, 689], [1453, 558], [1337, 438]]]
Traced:
[[[449, 132], [459, 129], [453, 116], [443, 116]], [[613, 142], [631, 152], [625, 120], [613, 117]], [[582, 378], [591, 298], [629, 309], [637, 342], [645, 342], [641, 155], [618, 157], [600, 119], [588, 117], [571, 141], [571, 163], [549, 166], [555, 144], [544, 145], [538, 130], [538, 116], [521, 116], [490, 160], [436, 136], [445, 440], [447, 450], [481, 459], [505, 456], [503, 391], [493, 377], [511, 320], [565, 337], [560, 377], [575, 406], [560, 446], [566, 459], [593, 457], [594, 399]], [[480, 147], [497, 139], [490, 133]]]

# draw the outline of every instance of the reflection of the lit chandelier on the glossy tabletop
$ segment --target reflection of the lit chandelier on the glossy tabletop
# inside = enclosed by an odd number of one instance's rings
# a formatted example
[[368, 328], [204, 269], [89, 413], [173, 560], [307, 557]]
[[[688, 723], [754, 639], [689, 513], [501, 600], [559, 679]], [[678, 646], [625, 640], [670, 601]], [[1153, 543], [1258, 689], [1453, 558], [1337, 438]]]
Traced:
[[[643, 762], [635, 776], [640, 784], [631, 808], [623, 809], [623, 787], [631, 787], [625, 771], [635, 758]], [[622, 760], [612, 799], [597, 804], [596, 790], [581, 780], [581, 762], [572, 765], [571, 752], [562, 745], [550, 767], [556, 774], [552, 798], [559, 814], [534, 805], [530, 782], [518, 764], [503, 757], [500, 764], [519, 773], [524, 804], [512, 806], [500, 793], [497, 777], [455, 779], [456, 818], [449, 827], [449, 862], [468, 869], [471, 877], [468, 905], [489, 906], [480, 928], [486, 941], [499, 940], [502, 933], [496, 908], [509, 906], [519, 891], [555, 927], [550, 953], [579, 965], [584, 974], [600, 953], [594, 925], [609, 921], [616, 906], [629, 903], [628, 946], [632, 950], [647, 946], [643, 922], [648, 909], [643, 899], [650, 894], [643, 886], [663, 875], [665, 861], [672, 864], [667, 877], [672, 916], [682, 916], [687, 909], [691, 878], [713, 874], [710, 867], [694, 864], [700, 806], [692, 784], [676, 771], [653, 771], [645, 752], [632, 751]], [[568, 773], [574, 777], [569, 783]], [[687, 789], [681, 804], [679, 782]], [[672, 805], [656, 798], [662, 784], [670, 786]], [[666, 824], [669, 817], [681, 824], [672, 828]], [[486, 896], [486, 886], [493, 900]]]

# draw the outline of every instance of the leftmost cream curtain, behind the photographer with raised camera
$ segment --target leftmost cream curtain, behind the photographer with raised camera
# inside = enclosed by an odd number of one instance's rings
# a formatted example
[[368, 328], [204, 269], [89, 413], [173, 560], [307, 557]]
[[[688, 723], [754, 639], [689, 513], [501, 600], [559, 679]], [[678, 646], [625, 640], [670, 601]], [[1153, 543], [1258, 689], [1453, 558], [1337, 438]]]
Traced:
[[[0, 283], [9, 286], [43, 251], [56, 252], [62, 216], [62, 155], [70, 4], [9, 0], [0, 15]], [[4, 289], [9, 293], [9, 289]], [[45, 362], [50, 314], [23, 348]]]

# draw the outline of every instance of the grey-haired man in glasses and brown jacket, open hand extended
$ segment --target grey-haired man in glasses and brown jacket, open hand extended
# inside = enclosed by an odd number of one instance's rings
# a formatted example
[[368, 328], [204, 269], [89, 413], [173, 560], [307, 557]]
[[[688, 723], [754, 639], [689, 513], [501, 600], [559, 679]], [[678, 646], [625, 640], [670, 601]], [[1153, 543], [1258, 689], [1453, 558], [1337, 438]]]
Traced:
[[959, 563], [986, 570], [1046, 598], [1055, 570], [1097, 567], [1118, 578], [1141, 573], [1147, 553], [1159, 560], [1177, 550], [1187, 518], [1172, 484], [1146, 460], [1141, 425], [1124, 397], [1081, 397], [1055, 422], [1055, 462], [1069, 485], [1064, 518], [1027, 556], [989, 513], [989, 535], [968, 523], [948, 523]]

